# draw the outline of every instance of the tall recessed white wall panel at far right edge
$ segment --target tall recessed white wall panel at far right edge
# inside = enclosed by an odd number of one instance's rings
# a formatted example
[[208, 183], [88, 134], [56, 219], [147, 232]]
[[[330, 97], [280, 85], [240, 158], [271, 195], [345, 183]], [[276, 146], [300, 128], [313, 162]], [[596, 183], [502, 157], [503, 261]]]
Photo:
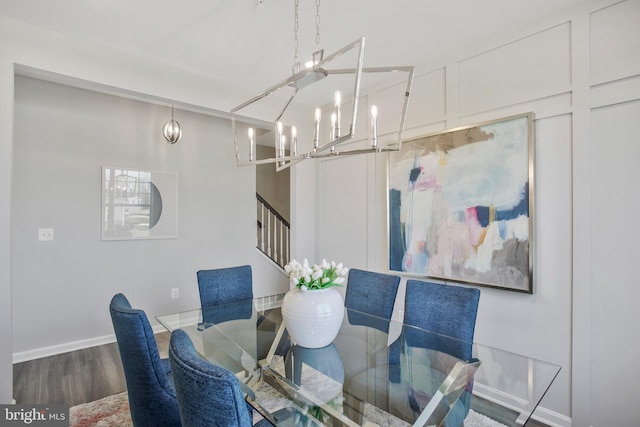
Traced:
[[[593, 324], [591, 407], [593, 425], [606, 425], [611, 413], [619, 425], [638, 422], [640, 410], [618, 393], [607, 393], [616, 383], [623, 396], [640, 393], [640, 375], [634, 369], [640, 344], [635, 325], [637, 302], [637, 242], [640, 239], [639, 139], [636, 126], [640, 100], [592, 111], [593, 138]], [[597, 390], [597, 392], [596, 392]]]

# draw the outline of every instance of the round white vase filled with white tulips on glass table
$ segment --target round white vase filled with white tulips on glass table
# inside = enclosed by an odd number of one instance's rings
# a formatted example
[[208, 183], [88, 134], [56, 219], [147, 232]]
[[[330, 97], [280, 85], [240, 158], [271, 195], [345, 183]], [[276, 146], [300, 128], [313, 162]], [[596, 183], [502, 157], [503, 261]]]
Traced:
[[342, 286], [349, 270], [322, 260], [309, 265], [292, 260], [285, 266], [295, 286], [282, 301], [282, 319], [293, 341], [302, 347], [322, 348], [335, 339], [344, 318], [344, 301], [334, 287]]

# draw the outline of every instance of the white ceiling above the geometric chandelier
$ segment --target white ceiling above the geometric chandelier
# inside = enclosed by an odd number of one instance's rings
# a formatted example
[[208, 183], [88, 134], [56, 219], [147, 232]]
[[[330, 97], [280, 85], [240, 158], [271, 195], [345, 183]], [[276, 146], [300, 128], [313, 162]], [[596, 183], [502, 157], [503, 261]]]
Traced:
[[[427, 65], [581, 2], [320, 0], [320, 48], [366, 36], [367, 67]], [[0, 0], [0, 14], [256, 91], [293, 65], [294, 0]], [[298, 16], [306, 59], [316, 2], [300, 0]]]

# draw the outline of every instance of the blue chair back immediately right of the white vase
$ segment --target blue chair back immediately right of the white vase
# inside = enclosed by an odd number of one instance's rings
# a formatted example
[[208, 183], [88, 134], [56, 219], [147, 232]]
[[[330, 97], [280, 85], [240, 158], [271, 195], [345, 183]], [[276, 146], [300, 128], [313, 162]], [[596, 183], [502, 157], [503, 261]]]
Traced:
[[399, 284], [399, 276], [352, 268], [349, 270], [344, 305], [391, 319]]

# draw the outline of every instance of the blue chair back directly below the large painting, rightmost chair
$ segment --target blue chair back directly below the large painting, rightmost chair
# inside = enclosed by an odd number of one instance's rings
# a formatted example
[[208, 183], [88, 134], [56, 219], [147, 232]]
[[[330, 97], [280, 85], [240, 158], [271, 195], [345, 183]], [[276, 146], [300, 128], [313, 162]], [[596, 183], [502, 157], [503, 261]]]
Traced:
[[429, 343], [409, 343], [469, 360], [479, 301], [476, 288], [407, 280], [404, 323], [433, 332]]

